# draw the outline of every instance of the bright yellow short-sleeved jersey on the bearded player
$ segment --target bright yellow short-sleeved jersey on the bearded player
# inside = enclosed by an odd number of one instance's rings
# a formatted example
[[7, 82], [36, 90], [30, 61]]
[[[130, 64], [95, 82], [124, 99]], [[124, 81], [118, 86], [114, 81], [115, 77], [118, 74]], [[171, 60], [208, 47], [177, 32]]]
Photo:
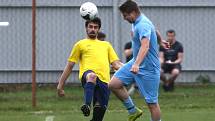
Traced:
[[83, 39], [75, 43], [69, 62], [79, 63], [79, 79], [87, 70], [92, 70], [105, 83], [110, 80], [110, 64], [119, 60], [111, 44], [107, 41]]

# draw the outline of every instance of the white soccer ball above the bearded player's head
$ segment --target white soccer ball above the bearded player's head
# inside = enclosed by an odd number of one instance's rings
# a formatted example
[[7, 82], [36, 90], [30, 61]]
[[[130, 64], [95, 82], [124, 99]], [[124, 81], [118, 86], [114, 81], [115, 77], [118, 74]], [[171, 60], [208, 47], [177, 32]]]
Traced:
[[80, 14], [85, 20], [92, 20], [98, 15], [98, 9], [92, 2], [85, 2], [80, 7]]

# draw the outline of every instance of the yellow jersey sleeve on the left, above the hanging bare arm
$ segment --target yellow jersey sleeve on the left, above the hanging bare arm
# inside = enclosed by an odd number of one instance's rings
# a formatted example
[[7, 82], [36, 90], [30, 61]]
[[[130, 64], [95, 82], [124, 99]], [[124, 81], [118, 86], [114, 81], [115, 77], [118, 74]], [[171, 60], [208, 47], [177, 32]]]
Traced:
[[75, 63], [78, 63], [79, 59], [80, 59], [80, 55], [81, 55], [81, 52], [80, 52], [80, 45], [78, 43], [76, 43], [74, 46], [73, 46], [73, 49], [70, 53], [70, 56], [68, 58], [68, 61], [70, 62], [75, 62]]

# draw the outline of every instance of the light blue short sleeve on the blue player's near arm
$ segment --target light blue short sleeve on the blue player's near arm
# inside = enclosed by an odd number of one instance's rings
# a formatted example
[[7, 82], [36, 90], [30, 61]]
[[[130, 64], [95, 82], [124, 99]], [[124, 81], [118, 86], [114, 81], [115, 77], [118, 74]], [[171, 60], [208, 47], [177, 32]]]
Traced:
[[150, 40], [152, 26], [146, 23], [146, 24], [142, 24], [141, 26], [138, 26], [137, 29], [138, 29], [140, 40], [142, 40], [143, 38], [148, 38]]

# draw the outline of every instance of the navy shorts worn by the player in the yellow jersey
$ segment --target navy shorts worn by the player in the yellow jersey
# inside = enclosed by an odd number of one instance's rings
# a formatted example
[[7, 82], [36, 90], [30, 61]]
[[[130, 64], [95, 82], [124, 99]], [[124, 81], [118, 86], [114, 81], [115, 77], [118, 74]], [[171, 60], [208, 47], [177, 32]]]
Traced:
[[[81, 78], [82, 87], [86, 84], [86, 76], [88, 73], [93, 72], [92, 70], [87, 70], [83, 73]], [[95, 72], [93, 72], [95, 73]], [[101, 106], [107, 107], [108, 100], [110, 96], [110, 90], [108, 89], [108, 84], [102, 82], [98, 77], [96, 78], [96, 85], [93, 96], [93, 106], [98, 102]]]

